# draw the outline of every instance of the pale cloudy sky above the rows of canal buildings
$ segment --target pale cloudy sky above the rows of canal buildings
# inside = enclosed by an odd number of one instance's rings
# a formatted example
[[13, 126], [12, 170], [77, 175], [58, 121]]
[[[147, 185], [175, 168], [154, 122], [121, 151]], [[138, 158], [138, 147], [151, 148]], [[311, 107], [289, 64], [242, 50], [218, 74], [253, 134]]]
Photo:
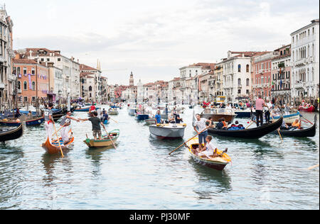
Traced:
[[274, 50], [319, 18], [314, 0], [0, 0], [14, 48], [46, 47], [97, 66], [110, 84], [169, 81], [179, 67], [218, 62], [228, 50]]

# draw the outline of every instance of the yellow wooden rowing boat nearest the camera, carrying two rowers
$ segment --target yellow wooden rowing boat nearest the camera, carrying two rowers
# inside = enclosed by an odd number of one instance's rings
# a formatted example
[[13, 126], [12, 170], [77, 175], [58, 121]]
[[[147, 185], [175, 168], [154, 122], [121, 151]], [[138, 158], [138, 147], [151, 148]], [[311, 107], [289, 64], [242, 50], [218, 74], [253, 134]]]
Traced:
[[228, 154], [223, 153], [220, 150], [217, 150], [218, 155], [222, 157], [215, 157], [209, 159], [208, 157], [198, 156], [197, 148], [199, 147], [199, 139], [193, 138], [190, 142], [187, 143], [188, 150], [191, 154], [191, 157], [198, 162], [199, 164], [210, 167], [212, 169], [217, 169], [222, 171], [225, 167], [232, 161]]

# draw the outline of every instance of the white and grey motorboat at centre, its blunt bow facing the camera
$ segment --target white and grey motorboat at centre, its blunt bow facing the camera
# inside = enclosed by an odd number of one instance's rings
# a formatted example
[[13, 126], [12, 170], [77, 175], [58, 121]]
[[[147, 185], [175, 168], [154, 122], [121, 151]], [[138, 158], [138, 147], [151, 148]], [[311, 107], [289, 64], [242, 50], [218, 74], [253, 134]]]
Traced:
[[183, 138], [186, 124], [150, 125], [149, 130], [156, 138], [174, 140]]

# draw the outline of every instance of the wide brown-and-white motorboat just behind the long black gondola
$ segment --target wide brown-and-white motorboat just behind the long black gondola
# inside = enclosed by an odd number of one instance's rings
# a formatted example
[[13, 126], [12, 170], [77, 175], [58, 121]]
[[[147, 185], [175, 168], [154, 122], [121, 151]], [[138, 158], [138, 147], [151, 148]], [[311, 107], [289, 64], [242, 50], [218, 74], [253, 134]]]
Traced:
[[233, 123], [237, 115], [229, 109], [225, 108], [213, 108], [213, 109], [205, 109], [201, 114], [201, 118], [212, 118], [213, 122], [218, 122], [221, 118], [225, 118], [225, 122]]

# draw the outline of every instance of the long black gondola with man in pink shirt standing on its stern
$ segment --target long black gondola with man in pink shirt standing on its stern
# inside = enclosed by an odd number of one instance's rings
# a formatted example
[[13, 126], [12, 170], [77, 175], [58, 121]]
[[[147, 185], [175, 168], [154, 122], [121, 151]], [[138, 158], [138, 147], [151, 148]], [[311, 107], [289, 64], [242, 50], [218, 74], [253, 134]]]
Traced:
[[244, 129], [244, 130], [218, 130], [218, 129], [210, 128], [208, 130], [208, 133], [212, 135], [220, 135], [223, 137], [231, 137], [231, 138], [258, 139], [280, 128], [280, 126], [282, 125], [282, 121], [283, 121], [283, 117], [270, 125], [262, 125], [257, 128]]

